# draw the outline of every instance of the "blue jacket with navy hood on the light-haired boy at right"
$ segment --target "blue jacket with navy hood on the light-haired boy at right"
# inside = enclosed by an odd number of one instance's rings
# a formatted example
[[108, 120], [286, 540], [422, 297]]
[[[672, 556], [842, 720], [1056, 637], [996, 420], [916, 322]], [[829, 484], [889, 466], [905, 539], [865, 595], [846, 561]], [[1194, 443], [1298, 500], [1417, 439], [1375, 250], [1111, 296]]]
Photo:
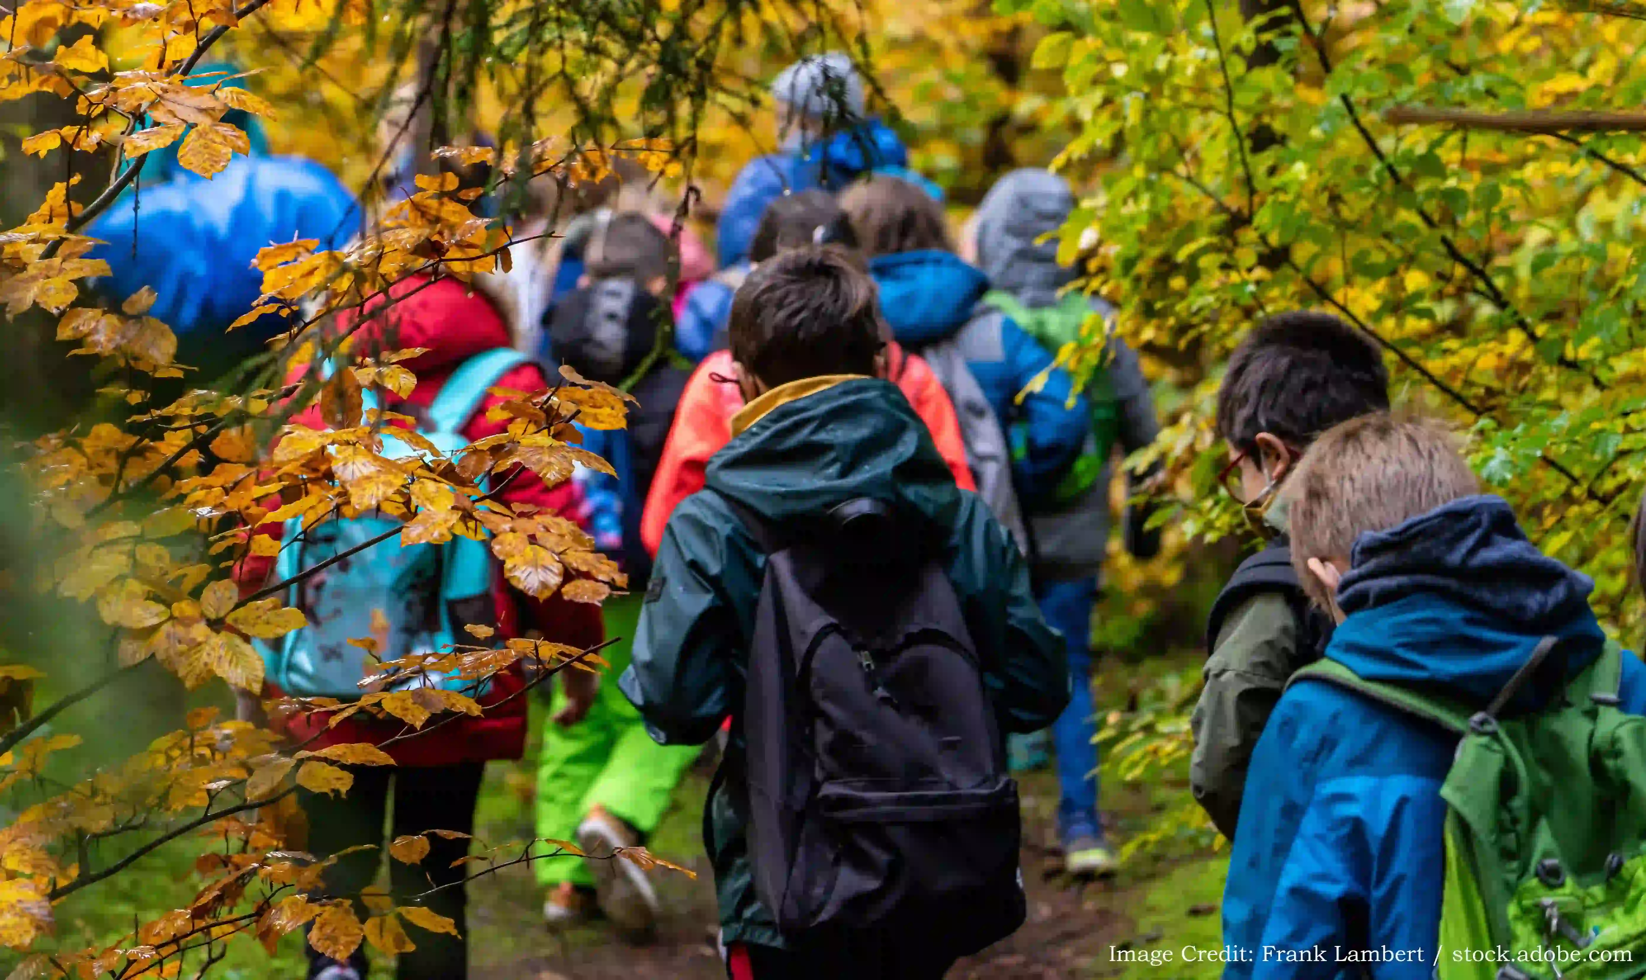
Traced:
[[[1570, 638], [1567, 673], [1600, 656], [1593, 582], [1539, 552], [1498, 497], [1467, 497], [1361, 534], [1338, 587], [1346, 613], [1327, 658], [1368, 681], [1485, 707], [1544, 636]], [[1623, 658], [1621, 707], [1646, 714], [1641, 661]], [[1524, 691], [1534, 709], [1549, 691]], [[1429, 980], [1440, 937], [1445, 781], [1457, 737], [1320, 682], [1281, 697], [1253, 753], [1223, 894], [1223, 942], [1249, 962], [1226, 980], [1358, 977], [1284, 952], [1424, 950], [1378, 980]]]

